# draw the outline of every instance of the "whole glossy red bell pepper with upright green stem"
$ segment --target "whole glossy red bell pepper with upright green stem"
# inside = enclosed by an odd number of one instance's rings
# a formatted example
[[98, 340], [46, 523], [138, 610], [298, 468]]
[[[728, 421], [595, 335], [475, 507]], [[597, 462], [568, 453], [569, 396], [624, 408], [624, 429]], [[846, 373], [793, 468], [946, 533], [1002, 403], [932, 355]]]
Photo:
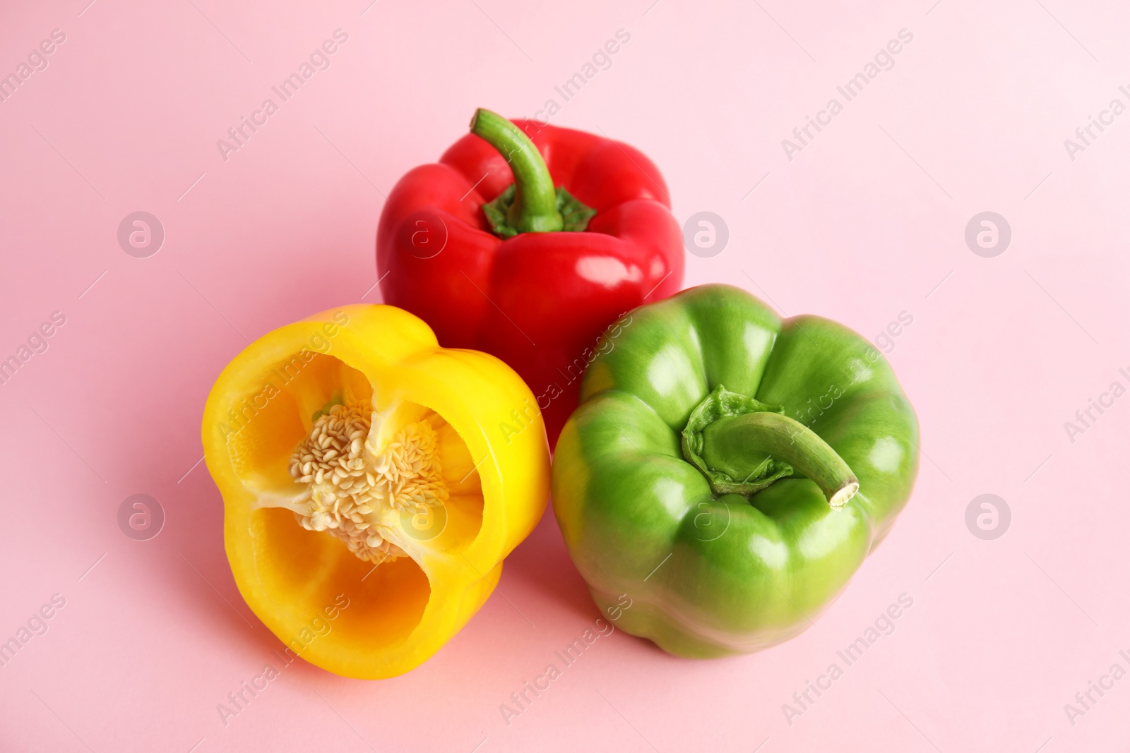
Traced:
[[[514, 121], [515, 134], [508, 124], [479, 111], [472, 129], [492, 142], [472, 132], [397, 183], [377, 229], [377, 275], [384, 303], [421, 317], [441, 344], [510, 364], [537, 396], [553, 447], [605, 327], [681, 287], [683, 238], [662, 176], [636, 149], [536, 121]], [[533, 229], [504, 239], [483, 205], [515, 174]], [[553, 214], [555, 186], [596, 210], [585, 229], [555, 229], [541, 216]]]

